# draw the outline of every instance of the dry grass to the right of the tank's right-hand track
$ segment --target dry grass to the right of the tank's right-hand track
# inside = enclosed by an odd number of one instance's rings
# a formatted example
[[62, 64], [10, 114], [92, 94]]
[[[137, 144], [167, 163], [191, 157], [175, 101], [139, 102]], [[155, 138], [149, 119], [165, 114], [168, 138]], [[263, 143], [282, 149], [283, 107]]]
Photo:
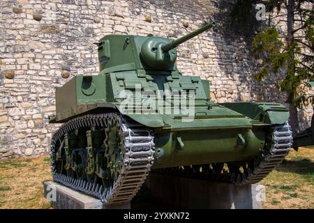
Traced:
[[314, 208], [314, 148], [291, 149], [261, 183], [266, 186], [264, 208]]

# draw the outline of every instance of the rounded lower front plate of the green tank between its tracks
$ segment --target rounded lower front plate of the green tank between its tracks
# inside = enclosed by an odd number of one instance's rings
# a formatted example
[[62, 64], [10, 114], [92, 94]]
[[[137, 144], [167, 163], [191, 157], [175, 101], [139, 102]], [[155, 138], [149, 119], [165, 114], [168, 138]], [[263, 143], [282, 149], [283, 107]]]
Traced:
[[264, 132], [250, 128], [186, 130], [155, 134], [155, 144], [154, 169], [244, 161], [261, 153]]

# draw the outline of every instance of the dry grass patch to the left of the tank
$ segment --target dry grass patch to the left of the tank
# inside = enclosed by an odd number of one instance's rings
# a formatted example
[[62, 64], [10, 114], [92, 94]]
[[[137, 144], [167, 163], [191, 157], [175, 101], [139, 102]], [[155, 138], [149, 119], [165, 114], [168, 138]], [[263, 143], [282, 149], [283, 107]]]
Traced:
[[51, 208], [43, 181], [51, 180], [49, 157], [0, 161], [0, 208]]

